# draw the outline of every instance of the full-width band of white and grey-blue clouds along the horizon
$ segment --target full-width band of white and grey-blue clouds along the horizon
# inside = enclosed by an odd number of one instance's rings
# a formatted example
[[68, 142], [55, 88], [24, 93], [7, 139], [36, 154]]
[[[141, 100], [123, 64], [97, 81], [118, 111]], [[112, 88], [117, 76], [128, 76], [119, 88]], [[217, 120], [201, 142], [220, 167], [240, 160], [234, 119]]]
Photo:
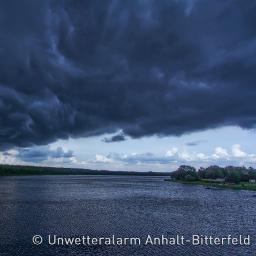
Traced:
[[182, 164], [197, 168], [210, 165], [255, 166], [256, 154], [246, 152], [239, 144], [233, 144], [230, 148], [215, 147], [208, 154], [192, 150], [190, 147], [172, 147], [165, 153], [98, 153], [94, 157], [81, 160], [72, 151], [62, 147], [52, 149], [49, 146], [36, 146], [4, 151], [0, 153], [0, 162], [2, 164], [90, 167], [92, 169], [170, 171]]

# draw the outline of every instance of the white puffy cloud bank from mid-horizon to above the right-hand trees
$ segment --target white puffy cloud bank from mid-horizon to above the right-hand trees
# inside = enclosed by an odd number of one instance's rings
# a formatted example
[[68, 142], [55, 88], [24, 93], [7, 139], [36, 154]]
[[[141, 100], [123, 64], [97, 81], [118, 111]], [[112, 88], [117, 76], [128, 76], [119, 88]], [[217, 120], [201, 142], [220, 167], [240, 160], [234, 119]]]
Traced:
[[94, 163], [123, 164], [123, 165], [166, 165], [176, 166], [181, 164], [191, 164], [197, 167], [209, 165], [252, 165], [256, 163], [256, 154], [246, 153], [239, 144], [234, 144], [230, 150], [223, 147], [216, 147], [212, 154], [202, 152], [181, 150], [173, 147], [164, 155], [153, 153], [133, 153], [133, 154], [108, 154], [96, 155]]

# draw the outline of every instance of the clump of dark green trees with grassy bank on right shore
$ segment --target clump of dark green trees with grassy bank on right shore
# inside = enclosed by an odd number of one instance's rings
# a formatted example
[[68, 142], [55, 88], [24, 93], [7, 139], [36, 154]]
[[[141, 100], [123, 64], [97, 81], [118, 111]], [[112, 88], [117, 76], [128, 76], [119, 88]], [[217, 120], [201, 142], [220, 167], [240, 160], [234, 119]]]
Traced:
[[256, 191], [256, 169], [249, 167], [200, 167], [181, 165], [172, 172], [168, 181], [204, 185], [208, 189], [244, 189]]

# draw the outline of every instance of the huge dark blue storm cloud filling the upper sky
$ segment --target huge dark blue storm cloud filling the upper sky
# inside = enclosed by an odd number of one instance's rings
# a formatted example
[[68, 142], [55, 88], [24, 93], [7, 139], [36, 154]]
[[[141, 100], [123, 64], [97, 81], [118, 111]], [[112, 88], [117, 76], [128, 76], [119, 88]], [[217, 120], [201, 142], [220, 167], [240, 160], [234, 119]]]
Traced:
[[256, 123], [254, 1], [1, 1], [0, 145]]

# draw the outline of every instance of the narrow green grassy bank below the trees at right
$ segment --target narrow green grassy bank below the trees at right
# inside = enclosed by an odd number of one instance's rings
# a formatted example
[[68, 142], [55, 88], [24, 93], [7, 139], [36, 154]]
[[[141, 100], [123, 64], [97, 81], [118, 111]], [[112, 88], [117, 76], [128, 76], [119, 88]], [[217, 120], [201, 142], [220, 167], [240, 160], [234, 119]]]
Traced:
[[241, 182], [239, 184], [230, 184], [230, 183], [220, 183], [220, 182], [209, 182], [209, 181], [183, 181], [183, 180], [176, 180], [172, 182], [178, 182], [187, 185], [203, 185], [207, 188], [214, 187], [219, 189], [235, 189], [235, 190], [251, 190], [256, 191], [256, 184], [249, 183], [249, 182]]

